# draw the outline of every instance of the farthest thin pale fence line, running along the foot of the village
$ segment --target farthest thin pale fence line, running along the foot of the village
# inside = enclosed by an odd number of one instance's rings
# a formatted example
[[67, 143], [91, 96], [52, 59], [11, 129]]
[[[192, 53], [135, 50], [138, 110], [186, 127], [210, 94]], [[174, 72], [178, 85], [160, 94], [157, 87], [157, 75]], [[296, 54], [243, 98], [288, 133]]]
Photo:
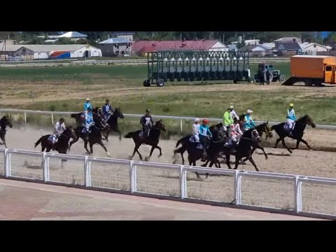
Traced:
[[[250, 58], [250, 63], [281, 63], [290, 62], [289, 58], [281, 57], [258, 57]], [[147, 59], [120, 59], [120, 60], [34, 60], [34, 61], [20, 61], [20, 62], [0, 62], [0, 67], [13, 67], [13, 66], [92, 66], [92, 65], [109, 65], [109, 64], [147, 64]]]

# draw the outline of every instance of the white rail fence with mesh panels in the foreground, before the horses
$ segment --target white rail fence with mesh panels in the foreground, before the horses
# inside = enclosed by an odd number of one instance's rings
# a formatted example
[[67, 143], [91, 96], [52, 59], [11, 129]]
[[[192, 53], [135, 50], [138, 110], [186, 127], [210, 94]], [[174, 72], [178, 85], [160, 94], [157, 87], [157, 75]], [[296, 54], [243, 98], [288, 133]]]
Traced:
[[[243, 209], [336, 220], [336, 179], [92, 158], [82, 155], [61, 155], [4, 148], [0, 148], [0, 153], [2, 153], [0, 160], [3, 158], [3, 167], [0, 165], [0, 177], [6, 179], [32, 180], [59, 185], [72, 184], [92, 190], [152, 195], [152, 197], [163, 197], [169, 200], [218, 204], [224, 207], [233, 205]], [[38, 163], [37, 169], [34, 169], [34, 172], [37, 173], [34, 177], [22, 171], [18, 172], [19, 169], [22, 169], [22, 164], [19, 164], [22, 156], [32, 157], [32, 160]], [[76, 162], [79, 169], [75, 169], [72, 163], [69, 164], [67, 170], [64, 168], [66, 165], [60, 167], [59, 162], [57, 167], [50, 165], [50, 160], [62, 159]], [[109, 172], [106, 169], [109, 169]], [[109, 185], [97, 183], [99, 172], [102, 172], [106, 181], [117, 180], [118, 183], [110, 183]], [[167, 172], [172, 172], [175, 176], [167, 176]], [[205, 176], [202, 175], [202, 179], [195, 179], [195, 172], [209, 174], [209, 178], [205, 179]], [[56, 173], [60, 175], [57, 177]], [[120, 173], [125, 176], [120, 178]], [[63, 177], [66, 174], [76, 175], [77, 178], [81, 177], [81, 182], [64, 181]], [[166, 176], [162, 176], [165, 174]], [[148, 181], [148, 177], [151, 177], [150, 181]], [[170, 184], [167, 186], [169, 181]]]

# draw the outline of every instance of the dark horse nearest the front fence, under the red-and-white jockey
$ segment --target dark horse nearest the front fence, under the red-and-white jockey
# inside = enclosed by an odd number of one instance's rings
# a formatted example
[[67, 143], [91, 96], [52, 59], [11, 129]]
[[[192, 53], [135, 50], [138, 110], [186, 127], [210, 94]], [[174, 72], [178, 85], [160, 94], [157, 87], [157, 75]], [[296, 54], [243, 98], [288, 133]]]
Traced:
[[[246, 132], [244, 132], [244, 134], [241, 137], [237, 147], [229, 148], [227, 146], [224, 146], [223, 153], [225, 155], [226, 165], [228, 165], [228, 168], [232, 169], [231, 165], [230, 165], [230, 155], [235, 155], [235, 157], [236, 157], [235, 169], [238, 168], [239, 160], [241, 160], [242, 158], [247, 158], [252, 163], [255, 170], [257, 172], [259, 172], [259, 169], [258, 169], [257, 165], [255, 165], [255, 162], [252, 158], [251, 148], [253, 148], [253, 147], [258, 148], [260, 141], [261, 141], [261, 138], [260, 138], [260, 135], [258, 133], [258, 130], [250, 129], [250, 130], [246, 130]], [[265, 153], [265, 151], [264, 151], [264, 154], [265, 154], [265, 158], [267, 159], [268, 157], [267, 157], [267, 154]]]

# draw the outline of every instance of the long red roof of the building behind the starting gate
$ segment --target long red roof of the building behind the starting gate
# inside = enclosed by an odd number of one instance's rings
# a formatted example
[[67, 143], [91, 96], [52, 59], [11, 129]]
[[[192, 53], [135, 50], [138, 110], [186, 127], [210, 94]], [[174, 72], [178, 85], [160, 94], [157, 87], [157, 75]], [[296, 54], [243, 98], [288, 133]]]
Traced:
[[146, 47], [148, 50], [209, 50], [217, 42], [215, 40], [197, 41], [137, 41], [133, 45], [133, 50], [139, 51]]

